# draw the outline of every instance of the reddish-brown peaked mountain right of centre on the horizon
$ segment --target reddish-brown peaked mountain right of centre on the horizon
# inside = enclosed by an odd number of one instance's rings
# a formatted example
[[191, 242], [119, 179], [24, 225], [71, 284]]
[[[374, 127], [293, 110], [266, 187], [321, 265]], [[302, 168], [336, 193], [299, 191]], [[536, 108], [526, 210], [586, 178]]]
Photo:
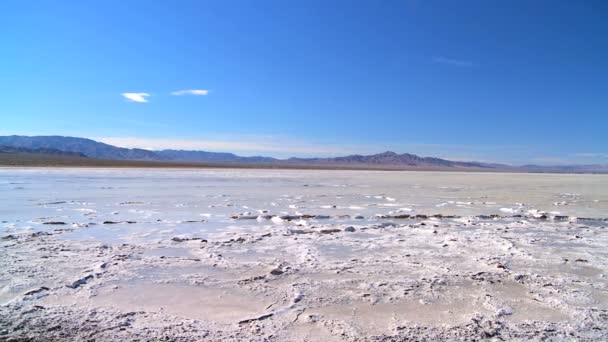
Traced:
[[[474, 168], [497, 168], [498, 165], [490, 165], [476, 162], [459, 162], [433, 157], [419, 157], [414, 154], [398, 154], [391, 151], [372, 154], [368, 156], [354, 154], [335, 158], [289, 158], [289, 163], [311, 163], [320, 165], [350, 165], [350, 166], [409, 166], [409, 167], [474, 167]], [[506, 166], [506, 165], [505, 165]]]

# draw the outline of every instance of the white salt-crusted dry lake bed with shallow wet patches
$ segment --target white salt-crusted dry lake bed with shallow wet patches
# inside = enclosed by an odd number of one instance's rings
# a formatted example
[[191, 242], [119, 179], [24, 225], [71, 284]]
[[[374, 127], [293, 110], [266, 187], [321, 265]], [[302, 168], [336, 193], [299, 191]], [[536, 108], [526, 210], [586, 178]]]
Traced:
[[607, 340], [608, 176], [0, 169], [0, 340]]

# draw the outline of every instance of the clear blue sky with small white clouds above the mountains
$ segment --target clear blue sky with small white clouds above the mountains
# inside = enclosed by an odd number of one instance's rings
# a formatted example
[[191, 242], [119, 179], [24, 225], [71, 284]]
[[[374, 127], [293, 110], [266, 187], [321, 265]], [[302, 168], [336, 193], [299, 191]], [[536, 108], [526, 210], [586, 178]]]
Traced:
[[0, 134], [608, 163], [607, 17], [603, 1], [7, 0]]

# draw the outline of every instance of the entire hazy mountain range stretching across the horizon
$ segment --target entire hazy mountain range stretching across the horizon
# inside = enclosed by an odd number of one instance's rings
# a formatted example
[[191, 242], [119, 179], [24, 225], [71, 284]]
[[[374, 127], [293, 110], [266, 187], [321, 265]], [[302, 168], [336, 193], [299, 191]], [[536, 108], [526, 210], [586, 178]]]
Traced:
[[387, 151], [373, 155], [349, 155], [333, 158], [277, 159], [263, 156], [242, 157], [233, 153], [123, 148], [86, 138], [64, 136], [0, 136], [0, 154], [29, 153], [48, 156], [94, 158], [105, 160], [191, 162], [264, 166], [317, 166], [388, 169], [472, 169], [524, 172], [608, 172], [608, 165], [568, 165], [514, 167], [505, 164], [452, 161], [435, 157]]

